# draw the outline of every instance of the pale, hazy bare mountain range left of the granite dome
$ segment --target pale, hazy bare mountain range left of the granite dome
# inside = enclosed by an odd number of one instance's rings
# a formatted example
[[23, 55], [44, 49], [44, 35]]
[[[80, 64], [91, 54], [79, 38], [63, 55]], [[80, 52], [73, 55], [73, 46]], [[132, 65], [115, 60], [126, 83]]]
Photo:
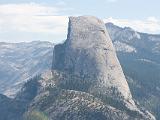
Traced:
[[51, 68], [50, 42], [0, 42], [0, 93], [13, 97], [28, 79]]

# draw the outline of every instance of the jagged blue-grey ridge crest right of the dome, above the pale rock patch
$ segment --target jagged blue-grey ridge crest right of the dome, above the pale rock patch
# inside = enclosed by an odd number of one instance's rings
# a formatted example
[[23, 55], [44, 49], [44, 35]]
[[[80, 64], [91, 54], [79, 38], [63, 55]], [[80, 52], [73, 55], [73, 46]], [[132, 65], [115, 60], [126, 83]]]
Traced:
[[[160, 35], [140, 33], [132, 28], [121, 28], [112, 23], [106, 23], [106, 27], [113, 43], [119, 42], [130, 45], [130, 47], [138, 49], [139, 52], [143, 50], [144, 52], [152, 52], [155, 55], [160, 54]], [[118, 45], [116, 45], [115, 47], [118, 49]]]

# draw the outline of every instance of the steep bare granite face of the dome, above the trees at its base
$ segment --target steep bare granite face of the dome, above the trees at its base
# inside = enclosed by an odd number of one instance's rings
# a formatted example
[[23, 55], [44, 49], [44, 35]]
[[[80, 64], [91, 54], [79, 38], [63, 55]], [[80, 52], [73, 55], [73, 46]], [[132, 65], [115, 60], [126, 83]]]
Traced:
[[55, 46], [53, 69], [83, 78], [89, 93], [136, 109], [105, 24], [95, 17], [70, 17], [66, 42]]

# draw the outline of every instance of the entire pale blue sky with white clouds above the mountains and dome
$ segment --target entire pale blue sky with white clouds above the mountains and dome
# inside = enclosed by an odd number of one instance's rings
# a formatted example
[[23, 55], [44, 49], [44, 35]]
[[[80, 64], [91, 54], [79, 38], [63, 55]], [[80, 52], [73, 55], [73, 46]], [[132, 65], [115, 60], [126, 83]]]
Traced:
[[0, 41], [66, 39], [68, 16], [94, 15], [141, 32], [160, 33], [159, 0], [1, 0]]

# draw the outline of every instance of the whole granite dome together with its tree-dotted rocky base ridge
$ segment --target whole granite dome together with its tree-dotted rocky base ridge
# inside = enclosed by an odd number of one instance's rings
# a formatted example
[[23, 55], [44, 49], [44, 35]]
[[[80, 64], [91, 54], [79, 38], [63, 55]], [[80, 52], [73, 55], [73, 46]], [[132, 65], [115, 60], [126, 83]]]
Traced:
[[52, 72], [40, 78], [29, 114], [39, 110], [52, 120], [154, 119], [136, 107], [105, 25], [95, 17], [70, 17], [67, 40], [54, 48]]

